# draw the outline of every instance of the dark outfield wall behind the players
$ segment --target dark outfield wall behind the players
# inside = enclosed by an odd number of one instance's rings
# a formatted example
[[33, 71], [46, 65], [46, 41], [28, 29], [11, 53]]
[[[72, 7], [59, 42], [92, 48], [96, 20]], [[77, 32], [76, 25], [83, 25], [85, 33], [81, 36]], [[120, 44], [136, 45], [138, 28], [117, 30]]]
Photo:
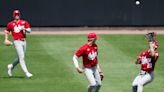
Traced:
[[164, 26], [164, 0], [0, 0], [0, 26], [13, 9], [32, 26]]

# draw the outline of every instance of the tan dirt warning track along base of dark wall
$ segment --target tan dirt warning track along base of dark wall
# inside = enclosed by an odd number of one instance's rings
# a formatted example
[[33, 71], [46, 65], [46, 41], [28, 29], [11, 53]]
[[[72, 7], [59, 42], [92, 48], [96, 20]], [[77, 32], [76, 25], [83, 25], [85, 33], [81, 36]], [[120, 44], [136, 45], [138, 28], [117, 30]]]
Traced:
[[[4, 30], [5, 28], [2, 28]], [[33, 27], [32, 35], [76, 35], [95, 32], [97, 34], [164, 34], [164, 27]], [[3, 31], [0, 34], [4, 34]]]

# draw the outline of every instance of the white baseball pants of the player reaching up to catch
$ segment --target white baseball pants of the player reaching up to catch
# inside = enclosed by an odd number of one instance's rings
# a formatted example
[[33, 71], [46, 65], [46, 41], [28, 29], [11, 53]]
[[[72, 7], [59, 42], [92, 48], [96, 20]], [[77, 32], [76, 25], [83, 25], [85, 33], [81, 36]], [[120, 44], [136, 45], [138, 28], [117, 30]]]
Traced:
[[137, 86], [137, 92], [143, 92], [143, 86], [150, 83], [154, 79], [154, 73], [141, 71], [140, 74], [134, 79], [132, 86]]

